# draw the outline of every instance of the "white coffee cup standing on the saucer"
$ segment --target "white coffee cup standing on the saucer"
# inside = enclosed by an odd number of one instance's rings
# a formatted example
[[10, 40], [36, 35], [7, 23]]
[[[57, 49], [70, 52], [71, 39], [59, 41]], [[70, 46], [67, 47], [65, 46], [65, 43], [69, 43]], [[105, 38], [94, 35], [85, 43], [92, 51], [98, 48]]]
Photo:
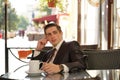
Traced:
[[30, 73], [38, 73], [38, 72], [40, 72], [42, 64], [43, 63], [40, 62], [39, 60], [31, 60], [29, 62], [29, 72]]

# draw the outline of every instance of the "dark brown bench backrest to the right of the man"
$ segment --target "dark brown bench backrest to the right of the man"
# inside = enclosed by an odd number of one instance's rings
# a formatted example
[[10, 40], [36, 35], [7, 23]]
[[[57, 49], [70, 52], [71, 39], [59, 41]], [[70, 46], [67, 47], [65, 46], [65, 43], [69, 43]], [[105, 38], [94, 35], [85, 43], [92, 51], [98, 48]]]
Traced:
[[83, 51], [87, 69], [120, 69], [120, 49]]

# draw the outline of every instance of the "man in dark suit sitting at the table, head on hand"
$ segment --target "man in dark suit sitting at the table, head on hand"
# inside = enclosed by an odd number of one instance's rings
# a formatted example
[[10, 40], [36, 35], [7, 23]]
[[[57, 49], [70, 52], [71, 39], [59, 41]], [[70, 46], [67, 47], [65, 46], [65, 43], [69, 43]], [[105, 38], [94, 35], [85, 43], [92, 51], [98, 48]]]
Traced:
[[[36, 51], [40, 51], [40, 54], [33, 58], [44, 62], [41, 68], [42, 70], [48, 74], [53, 74], [59, 72], [74, 72], [86, 68], [84, 55], [80, 51], [79, 43], [77, 41], [65, 42], [59, 25], [55, 23], [46, 25], [44, 27], [44, 33], [45, 37], [38, 41], [36, 48]], [[47, 41], [56, 49], [50, 62], [48, 62], [48, 60], [51, 51], [42, 53], [42, 49], [45, 47]]]

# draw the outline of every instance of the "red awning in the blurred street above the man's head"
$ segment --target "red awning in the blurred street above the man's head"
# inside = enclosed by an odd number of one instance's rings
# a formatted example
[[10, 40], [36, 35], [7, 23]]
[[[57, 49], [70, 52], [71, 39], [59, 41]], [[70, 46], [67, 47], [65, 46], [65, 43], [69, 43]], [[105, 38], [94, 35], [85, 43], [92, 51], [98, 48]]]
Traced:
[[34, 22], [36, 23], [39, 23], [39, 22], [44, 22], [44, 21], [54, 21], [56, 22], [57, 21], [57, 15], [48, 15], [48, 16], [44, 16], [44, 17], [41, 17], [41, 18], [35, 18], [33, 19]]

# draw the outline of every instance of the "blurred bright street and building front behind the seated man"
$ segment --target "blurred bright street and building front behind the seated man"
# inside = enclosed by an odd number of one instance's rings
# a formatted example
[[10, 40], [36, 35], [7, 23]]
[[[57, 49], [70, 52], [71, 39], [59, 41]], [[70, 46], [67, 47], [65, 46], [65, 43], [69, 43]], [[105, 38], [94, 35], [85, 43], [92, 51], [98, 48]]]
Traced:
[[61, 26], [66, 41], [120, 48], [119, 0], [0, 0], [0, 74], [7, 71], [6, 64], [10, 72], [24, 64], [13, 54], [18, 57], [18, 50], [34, 49], [49, 22]]

